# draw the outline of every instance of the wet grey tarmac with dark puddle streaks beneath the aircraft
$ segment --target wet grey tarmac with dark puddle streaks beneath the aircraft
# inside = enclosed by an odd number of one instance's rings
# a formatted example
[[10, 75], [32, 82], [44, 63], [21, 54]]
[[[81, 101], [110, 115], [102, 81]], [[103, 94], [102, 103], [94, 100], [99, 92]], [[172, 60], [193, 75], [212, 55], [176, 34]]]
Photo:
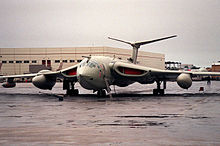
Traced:
[[0, 145], [220, 145], [220, 82], [168, 83], [165, 96], [155, 86], [112, 87], [110, 100], [77, 84], [81, 95], [62, 102], [61, 83], [0, 87]]

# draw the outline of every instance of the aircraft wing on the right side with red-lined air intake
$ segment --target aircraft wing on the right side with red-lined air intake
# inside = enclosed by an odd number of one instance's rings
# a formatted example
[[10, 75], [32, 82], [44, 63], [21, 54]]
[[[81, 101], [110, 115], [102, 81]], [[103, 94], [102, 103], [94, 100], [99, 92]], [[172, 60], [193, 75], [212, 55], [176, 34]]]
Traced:
[[115, 62], [111, 65], [117, 79], [123, 78], [137, 81], [139, 83], [147, 83], [150, 80], [160, 81], [175, 81], [177, 77], [182, 74], [190, 74], [191, 77], [195, 76], [220, 76], [220, 72], [192, 72], [192, 71], [170, 71], [155, 68], [144, 67], [125, 62]]

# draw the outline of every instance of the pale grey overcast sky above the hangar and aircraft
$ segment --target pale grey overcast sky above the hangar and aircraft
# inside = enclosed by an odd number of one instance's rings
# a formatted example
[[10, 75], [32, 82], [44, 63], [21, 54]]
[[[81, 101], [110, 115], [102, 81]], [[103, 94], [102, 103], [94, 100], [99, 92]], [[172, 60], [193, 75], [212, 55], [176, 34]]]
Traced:
[[110, 46], [108, 36], [142, 41], [140, 50], [210, 66], [220, 60], [219, 0], [0, 0], [0, 47]]

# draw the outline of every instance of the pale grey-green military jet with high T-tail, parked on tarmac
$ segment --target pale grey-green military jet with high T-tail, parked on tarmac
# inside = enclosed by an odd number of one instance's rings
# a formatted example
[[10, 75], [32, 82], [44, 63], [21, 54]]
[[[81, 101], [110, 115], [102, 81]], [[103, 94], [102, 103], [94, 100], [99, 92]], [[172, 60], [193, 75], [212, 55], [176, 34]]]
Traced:
[[[15, 87], [14, 78], [32, 78], [34, 86], [40, 89], [51, 90], [57, 78], [63, 79], [63, 89], [68, 95], [77, 95], [79, 91], [74, 88], [76, 82], [88, 90], [97, 92], [98, 96], [105, 96], [106, 91], [111, 97], [111, 85], [126, 87], [134, 82], [141, 84], [157, 83], [153, 90], [154, 95], [163, 95], [167, 81], [176, 81], [183, 88], [188, 89], [192, 85], [192, 77], [195, 76], [220, 76], [220, 72], [192, 72], [192, 71], [169, 71], [140, 66], [137, 64], [138, 49], [141, 45], [170, 39], [169, 36], [150, 41], [128, 42], [109, 37], [109, 39], [129, 44], [133, 47], [132, 57], [128, 60], [120, 60], [106, 56], [84, 56], [84, 59], [74, 66], [60, 71], [42, 70], [35, 74], [1, 76], [6, 79], [3, 87]], [[163, 87], [161, 88], [161, 83]]]

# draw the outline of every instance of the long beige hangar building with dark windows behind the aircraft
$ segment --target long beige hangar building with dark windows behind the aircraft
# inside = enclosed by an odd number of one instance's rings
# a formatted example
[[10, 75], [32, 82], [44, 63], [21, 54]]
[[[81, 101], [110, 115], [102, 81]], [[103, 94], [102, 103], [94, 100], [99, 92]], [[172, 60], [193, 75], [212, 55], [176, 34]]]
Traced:
[[[36, 73], [42, 69], [56, 71], [79, 63], [82, 56], [101, 55], [126, 60], [131, 54], [132, 49], [112, 47], [0, 48], [0, 75]], [[139, 51], [138, 63], [164, 69], [165, 55]]]

